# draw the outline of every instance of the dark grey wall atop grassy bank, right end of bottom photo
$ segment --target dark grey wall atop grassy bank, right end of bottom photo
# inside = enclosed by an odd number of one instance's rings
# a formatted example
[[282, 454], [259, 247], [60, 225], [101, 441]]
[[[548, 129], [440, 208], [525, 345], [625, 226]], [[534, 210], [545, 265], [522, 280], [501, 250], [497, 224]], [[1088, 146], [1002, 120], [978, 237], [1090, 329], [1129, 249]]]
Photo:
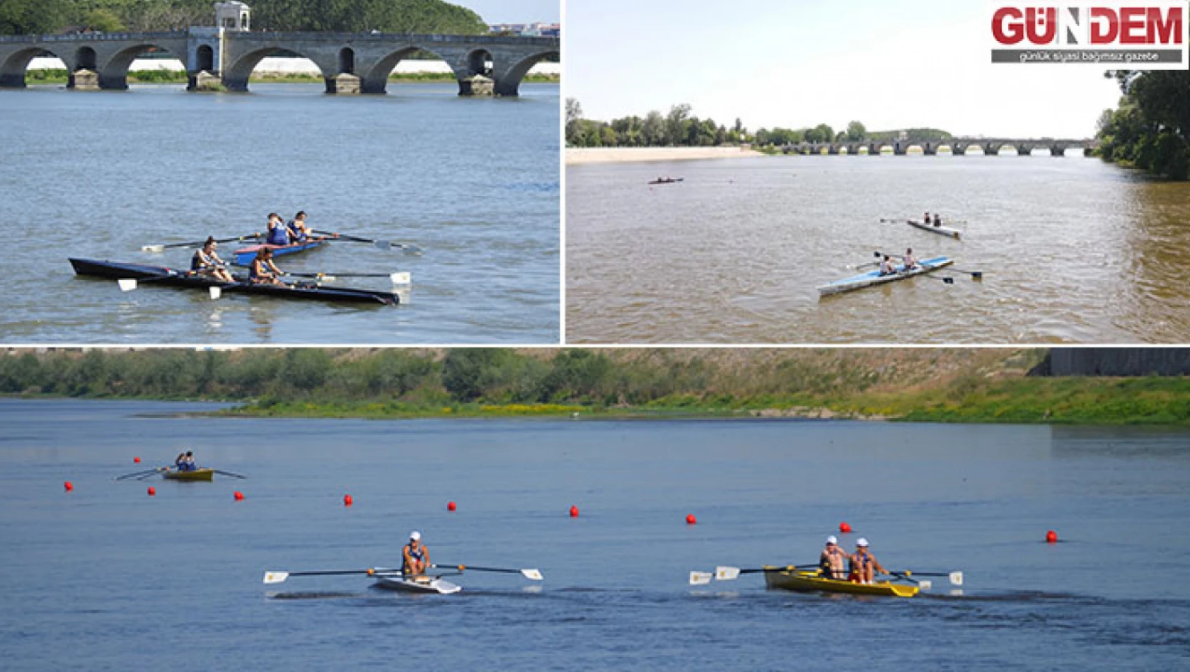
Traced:
[[1054, 347], [1033, 376], [1190, 376], [1190, 347]]

